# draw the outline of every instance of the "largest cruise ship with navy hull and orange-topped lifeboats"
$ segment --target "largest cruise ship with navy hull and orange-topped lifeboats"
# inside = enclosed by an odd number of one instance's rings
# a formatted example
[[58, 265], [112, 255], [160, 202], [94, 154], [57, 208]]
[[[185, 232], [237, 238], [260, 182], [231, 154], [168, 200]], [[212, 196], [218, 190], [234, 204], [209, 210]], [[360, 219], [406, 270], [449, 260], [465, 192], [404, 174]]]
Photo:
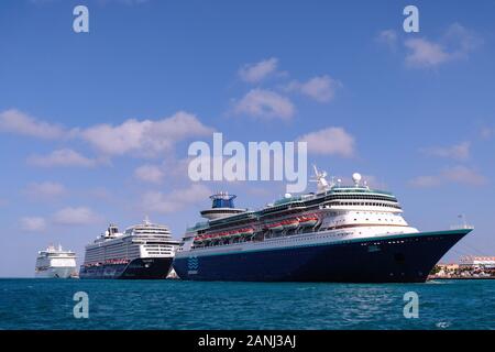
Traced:
[[252, 211], [234, 195], [211, 196], [208, 220], [187, 230], [173, 266], [183, 279], [420, 283], [472, 229], [420, 232], [396, 197], [328, 183], [315, 167], [317, 193], [287, 194]]

